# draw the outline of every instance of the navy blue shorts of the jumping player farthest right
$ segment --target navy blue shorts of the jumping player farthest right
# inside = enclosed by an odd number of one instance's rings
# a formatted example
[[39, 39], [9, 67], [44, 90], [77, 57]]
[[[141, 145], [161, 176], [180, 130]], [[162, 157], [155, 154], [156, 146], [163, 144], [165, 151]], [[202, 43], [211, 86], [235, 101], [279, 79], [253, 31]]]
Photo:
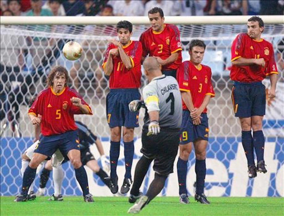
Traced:
[[232, 102], [236, 117], [264, 116], [265, 100], [265, 86], [261, 82], [235, 82], [232, 87]]

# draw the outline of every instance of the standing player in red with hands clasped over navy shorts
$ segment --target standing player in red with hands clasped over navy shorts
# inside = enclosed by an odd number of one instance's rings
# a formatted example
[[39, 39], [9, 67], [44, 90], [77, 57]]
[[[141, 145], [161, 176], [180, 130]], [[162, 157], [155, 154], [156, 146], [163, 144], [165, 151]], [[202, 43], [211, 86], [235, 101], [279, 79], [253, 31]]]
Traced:
[[182, 62], [177, 70], [177, 82], [182, 94], [182, 129], [180, 155], [177, 161], [177, 176], [180, 202], [188, 204], [186, 190], [187, 161], [195, 150], [196, 194], [195, 200], [210, 204], [204, 195], [206, 176], [206, 147], [208, 144], [207, 105], [215, 96], [211, 84], [211, 68], [202, 65], [206, 45], [202, 40], [192, 40], [189, 46], [190, 61]]

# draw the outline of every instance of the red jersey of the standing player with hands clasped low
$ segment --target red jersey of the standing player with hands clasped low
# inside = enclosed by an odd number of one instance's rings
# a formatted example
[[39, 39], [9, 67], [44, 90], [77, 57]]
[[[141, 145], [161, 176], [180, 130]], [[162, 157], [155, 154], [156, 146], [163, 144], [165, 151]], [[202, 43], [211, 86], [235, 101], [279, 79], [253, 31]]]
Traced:
[[[191, 61], [184, 61], [177, 70], [177, 82], [180, 91], [190, 91], [192, 102], [195, 108], [200, 107], [205, 95], [215, 96], [211, 84], [211, 68], [206, 65], [200, 65], [197, 69]], [[182, 109], [188, 110], [186, 104], [182, 101]], [[207, 112], [207, 108], [203, 110]]]

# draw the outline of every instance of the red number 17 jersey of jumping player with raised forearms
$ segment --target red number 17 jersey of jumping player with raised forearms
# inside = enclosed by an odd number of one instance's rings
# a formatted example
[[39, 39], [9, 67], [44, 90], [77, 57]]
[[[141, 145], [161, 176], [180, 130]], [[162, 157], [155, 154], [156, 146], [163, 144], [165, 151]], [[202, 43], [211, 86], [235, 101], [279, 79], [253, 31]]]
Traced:
[[[108, 58], [108, 53], [111, 49], [117, 46], [109, 44], [106, 49], [104, 62], [102, 64], [105, 69], [105, 64]], [[123, 46], [124, 52], [130, 57], [132, 68], [127, 69], [120, 57], [112, 57], [113, 72], [110, 75], [109, 84], [110, 88], [139, 88], [141, 85], [141, 57], [142, 45], [139, 41], [130, 41], [130, 44]]]

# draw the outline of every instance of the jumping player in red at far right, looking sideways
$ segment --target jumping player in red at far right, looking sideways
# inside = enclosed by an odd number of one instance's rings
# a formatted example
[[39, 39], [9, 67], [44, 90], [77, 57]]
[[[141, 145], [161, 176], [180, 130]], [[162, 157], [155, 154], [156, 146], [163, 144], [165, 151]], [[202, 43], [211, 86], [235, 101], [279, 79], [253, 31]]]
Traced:
[[[273, 46], [261, 38], [264, 30], [262, 19], [253, 16], [247, 25], [248, 33], [237, 35], [232, 43], [230, 77], [234, 81], [232, 102], [235, 116], [240, 119], [249, 177], [254, 178], [257, 172], [267, 172], [263, 157], [265, 139], [262, 132], [266, 95], [265, 86], [261, 81], [270, 76], [271, 87], [268, 90], [268, 97], [274, 98], [278, 72]], [[254, 163], [253, 149], [257, 155], [257, 167]]]

